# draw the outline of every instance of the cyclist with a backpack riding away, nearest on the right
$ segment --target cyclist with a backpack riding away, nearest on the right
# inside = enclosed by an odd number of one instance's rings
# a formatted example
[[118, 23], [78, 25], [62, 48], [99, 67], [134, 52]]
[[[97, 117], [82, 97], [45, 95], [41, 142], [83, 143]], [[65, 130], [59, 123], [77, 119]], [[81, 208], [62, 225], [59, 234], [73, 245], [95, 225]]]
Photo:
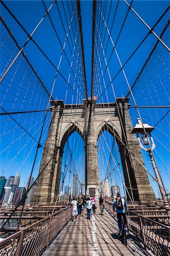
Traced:
[[113, 210], [116, 207], [117, 212], [117, 220], [118, 220], [118, 229], [119, 229], [119, 236], [122, 235], [121, 230], [121, 216], [123, 216], [125, 229], [127, 230], [127, 224], [126, 224], [126, 209], [127, 204], [124, 198], [121, 197], [120, 193], [117, 193], [116, 199], [113, 201]]

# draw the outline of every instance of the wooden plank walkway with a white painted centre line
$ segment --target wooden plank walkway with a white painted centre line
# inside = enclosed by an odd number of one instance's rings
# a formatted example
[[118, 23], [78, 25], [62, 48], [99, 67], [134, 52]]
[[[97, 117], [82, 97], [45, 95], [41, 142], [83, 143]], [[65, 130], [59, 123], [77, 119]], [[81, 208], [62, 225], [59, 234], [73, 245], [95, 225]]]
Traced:
[[143, 256], [140, 243], [128, 238], [126, 247], [118, 239], [117, 222], [104, 211], [101, 216], [97, 209], [96, 215], [87, 220], [85, 216], [70, 221], [62, 232], [51, 243], [43, 256]]

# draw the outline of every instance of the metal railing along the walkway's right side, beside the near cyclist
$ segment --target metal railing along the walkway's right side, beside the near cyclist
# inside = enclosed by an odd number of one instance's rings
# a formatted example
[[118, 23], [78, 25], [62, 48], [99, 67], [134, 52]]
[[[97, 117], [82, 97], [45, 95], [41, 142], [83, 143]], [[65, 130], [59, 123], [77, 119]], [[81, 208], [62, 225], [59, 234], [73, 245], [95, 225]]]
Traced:
[[[105, 208], [114, 217], [116, 212], [109, 201], [105, 201]], [[145, 250], [151, 250], [157, 256], [170, 255], [170, 228], [162, 223], [150, 220], [146, 216], [127, 211], [128, 230], [133, 233], [145, 246]]]

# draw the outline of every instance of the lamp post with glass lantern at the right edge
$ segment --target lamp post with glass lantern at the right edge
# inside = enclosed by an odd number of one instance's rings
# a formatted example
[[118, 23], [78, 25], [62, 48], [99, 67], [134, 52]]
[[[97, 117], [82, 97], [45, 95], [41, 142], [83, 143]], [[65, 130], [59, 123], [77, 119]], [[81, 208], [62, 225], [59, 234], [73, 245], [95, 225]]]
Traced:
[[169, 203], [168, 203], [167, 197], [165, 195], [165, 191], [163, 189], [163, 184], [160, 179], [159, 172], [156, 167], [155, 160], [154, 160], [154, 157], [152, 154], [152, 150], [154, 150], [154, 148], [156, 147], [155, 143], [154, 143], [154, 139], [152, 138], [152, 135], [151, 135], [151, 131], [154, 130], [154, 127], [148, 125], [147, 123], [142, 124], [140, 118], [138, 118], [137, 120], [138, 120], [138, 123], [137, 123], [137, 125], [135, 125], [135, 127], [133, 128], [131, 133], [137, 134], [139, 146], [143, 150], [147, 151], [148, 155], [150, 156], [152, 167], [154, 169], [155, 176], [156, 176], [156, 181], [158, 182], [160, 193], [161, 193], [162, 199], [164, 201], [164, 208], [167, 211], [167, 214], [170, 215]]

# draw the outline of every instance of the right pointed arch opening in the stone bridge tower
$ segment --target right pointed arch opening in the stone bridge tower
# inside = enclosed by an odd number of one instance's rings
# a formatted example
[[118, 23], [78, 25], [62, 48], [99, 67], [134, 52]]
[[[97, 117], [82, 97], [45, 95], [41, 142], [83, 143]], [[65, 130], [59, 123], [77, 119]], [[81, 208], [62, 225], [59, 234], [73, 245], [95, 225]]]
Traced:
[[121, 131], [115, 127], [105, 122], [97, 134], [100, 191], [112, 198], [120, 192], [128, 200], [139, 201], [130, 156], [122, 143]]

